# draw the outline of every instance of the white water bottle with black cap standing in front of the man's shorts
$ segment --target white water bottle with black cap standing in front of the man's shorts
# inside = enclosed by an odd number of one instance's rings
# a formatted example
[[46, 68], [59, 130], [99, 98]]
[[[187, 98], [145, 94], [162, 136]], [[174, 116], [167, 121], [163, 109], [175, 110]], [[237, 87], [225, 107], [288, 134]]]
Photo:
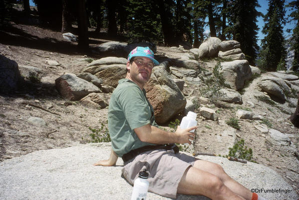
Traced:
[[145, 200], [149, 183], [147, 181], [148, 173], [144, 169], [139, 172], [138, 178], [134, 181], [134, 187], [131, 200]]

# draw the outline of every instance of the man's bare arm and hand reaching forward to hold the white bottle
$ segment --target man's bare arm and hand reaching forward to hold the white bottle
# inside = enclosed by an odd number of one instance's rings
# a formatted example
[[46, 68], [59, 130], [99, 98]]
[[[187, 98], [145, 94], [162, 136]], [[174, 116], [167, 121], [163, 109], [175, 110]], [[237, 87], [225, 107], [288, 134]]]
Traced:
[[181, 129], [180, 126], [178, 126], [175, 132], [168, 132], [168, 131], [161, 130], [150, 124], [147, 124], [139, 128], [135, 128], [134, 131], [142, 142], [148, 142], [153, 144], [165, 144], [165, 143], [191, 144], [189, 140], [194, 139], [195, 133], [191, 133], [189, 131], [193, 129], [196, 129], [196, 126], [186, 128], [186, 129]]

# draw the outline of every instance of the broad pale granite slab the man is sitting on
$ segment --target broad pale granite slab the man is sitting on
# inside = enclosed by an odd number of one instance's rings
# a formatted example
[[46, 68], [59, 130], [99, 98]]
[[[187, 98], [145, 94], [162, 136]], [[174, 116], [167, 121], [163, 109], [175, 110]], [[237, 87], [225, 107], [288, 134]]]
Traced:
[[[98, 160], [107, 159], [110, 151], [109, 143], [89, 143], [36, 151], [5, 160], [0, 163], [0, 199], [130, 199], [133, 187], [121, 176], [121, 159], [113, 167], [92, 165]], [[292, 186], [269, 167], [252, 162], [229, 161], [218, 156], [197, 158], [221, 165], [229, 176], [248, 189], [292, 190], [290, 193], [258, 193], [266, 199], [299, 198]], [[168, 198], [148, 192], [147, 199]], [[203, 196], [186, 195], [178, 195], [178, 199], [207, 200]]]

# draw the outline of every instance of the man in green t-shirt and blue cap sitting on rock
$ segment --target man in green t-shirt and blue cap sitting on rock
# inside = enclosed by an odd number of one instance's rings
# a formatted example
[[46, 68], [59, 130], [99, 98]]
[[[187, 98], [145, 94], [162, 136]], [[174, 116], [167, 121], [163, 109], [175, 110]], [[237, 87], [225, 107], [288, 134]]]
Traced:
[[148, 47], [137, 47], [129, 54], [126, 77], [119, 81], [109, 103], [110, 158], [94, 165], [113, 166], [122, 157], [122, 173], [129, 183], [133, 184], [138, 173], [146, 169], [149, 191], [169, 198], [185, 194], [215, 200], [257, 200], [257, 194], [229, 177], [220, 165], [177, 153], [176, 146], [161, 145], [191, 144], [195, 134], [189, 131], [196, 127], [178, 126], [175, 132], [158, 128], [144, 90], [158, 64]]

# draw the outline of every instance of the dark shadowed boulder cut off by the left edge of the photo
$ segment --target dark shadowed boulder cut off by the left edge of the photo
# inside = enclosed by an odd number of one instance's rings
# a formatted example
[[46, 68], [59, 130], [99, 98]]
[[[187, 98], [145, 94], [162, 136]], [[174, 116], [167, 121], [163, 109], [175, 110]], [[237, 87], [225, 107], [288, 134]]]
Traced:
[[19, 87], [20, 72], [15, 61], [0, 55], [0, 93], [9, 93]]

